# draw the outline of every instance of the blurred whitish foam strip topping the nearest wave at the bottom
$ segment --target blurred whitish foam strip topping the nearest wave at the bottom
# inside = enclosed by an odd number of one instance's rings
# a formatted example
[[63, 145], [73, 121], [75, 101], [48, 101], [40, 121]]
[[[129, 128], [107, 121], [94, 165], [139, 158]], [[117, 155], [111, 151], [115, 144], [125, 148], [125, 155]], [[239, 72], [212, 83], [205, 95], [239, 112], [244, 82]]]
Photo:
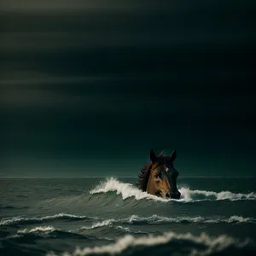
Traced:
[[[101, 247], [85, 247], [84, 249], [76, 248], [73, 253], [63, 253], [65, 256], [84, 256], [88, 254], [98, 254], [98, 253], [110, 253], [117, 254], [124, 252], [129, 247], [139, 247], [139, 246], [157, 246], [160, 244], [166, 244], [171, 241], [189, 241], [195, 244], [203, 245], [205, 248], [201, 251], [191, 251], [190, 255], [207, 255], [207, 253], [218, 252], [226, 247], [243, 247], [248, 241], [238, 241], [230, 236], [218, 236], [211, 237], [207, 236], [205, 233], [201, 233], [201, 236], [193, 236], [190, 233], [187, 234], [177, 234], [174, 232], [166, 232], [161, 236], [140, 236], [135, 237], [131, 235], [123, 236], [119, 238], [116, 242], [109, 245]], [[54, 256], [55, 253], [47, 253], [47, 256]]]

